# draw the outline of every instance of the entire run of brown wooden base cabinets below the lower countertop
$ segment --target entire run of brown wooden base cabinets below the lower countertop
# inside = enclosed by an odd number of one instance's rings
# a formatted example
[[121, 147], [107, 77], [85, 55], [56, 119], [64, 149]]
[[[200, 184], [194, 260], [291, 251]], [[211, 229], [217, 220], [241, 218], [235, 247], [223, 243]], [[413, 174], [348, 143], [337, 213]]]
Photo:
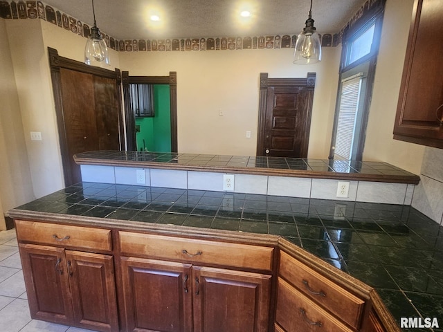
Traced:
[[281, 238], [62, 220], [15, 219], [37, 320], [102, 332], [400, 331], [373, 288]]

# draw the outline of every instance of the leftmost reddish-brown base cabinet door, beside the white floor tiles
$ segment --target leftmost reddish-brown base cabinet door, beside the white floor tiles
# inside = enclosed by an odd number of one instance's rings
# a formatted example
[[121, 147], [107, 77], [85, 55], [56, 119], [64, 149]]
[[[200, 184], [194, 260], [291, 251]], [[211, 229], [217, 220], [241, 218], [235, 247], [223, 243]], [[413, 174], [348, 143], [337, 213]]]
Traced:
[[36, 320], [73, 322], [64, 249], [19, 244], [30, 315]]

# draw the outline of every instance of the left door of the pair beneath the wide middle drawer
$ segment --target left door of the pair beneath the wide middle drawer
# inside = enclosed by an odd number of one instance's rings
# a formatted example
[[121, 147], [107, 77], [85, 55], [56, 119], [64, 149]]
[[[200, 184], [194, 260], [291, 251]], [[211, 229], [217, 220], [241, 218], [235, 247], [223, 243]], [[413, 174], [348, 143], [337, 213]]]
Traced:
[[192, 331], [190, 264], [123, 257], [121, 265], [127, 331]]

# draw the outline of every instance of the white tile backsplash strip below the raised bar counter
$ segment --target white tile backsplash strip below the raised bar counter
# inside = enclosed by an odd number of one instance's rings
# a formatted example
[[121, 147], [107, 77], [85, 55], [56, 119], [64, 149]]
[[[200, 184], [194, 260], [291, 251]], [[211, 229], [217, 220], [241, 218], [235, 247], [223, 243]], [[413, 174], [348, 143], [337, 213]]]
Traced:
[[[81, 169], [83, 181], [141, 185], [136, 183], [136, 167], [82, 165]], [[144, 170], [146, 178], [145, 185], [150, 185], [152, 187], [213, 190], [217, 192], [224, 191], [223, 174], [225, 173], [181, 171], [174, 169]], [[348, 197], [339, 198], [336, 196], [338, 180], [251, 174], [234, 174], [234, 176], [234, 192], [246, 194], [268, 194], [273, 196], [291, 196], [311, 199], [330, 199], [334, 201], [358, 201], [400, 205], [410, 205], [414, 204], [414, 202], [416, 202], [417, 205], [417, 202], [421, 201], [425, 195], [423, 190], [417, 191], [417, 186], [408, 185], [405, 183], [347, 181], [350, 183]], [[443, 183], [438, 181], [435, 182], [443, 186]], [[440, 186], [437, 186], [435, 196], [438, 196], [438, 194], [441, 193], [439, 190], [442, 189], [440, 189]], [[440, 206], [443, 206], [443, 203], [440, 203], [440, 205], [439, 203], [436, 203], [432, 206], [435, 206], [435, 208], [432, 208], [431, 210], [437, 209], [437, 214], [443, 209], [438, 210]], [[417, 210], [420, 209], [417, 208]], [[424, 207], [423, 210], [430, 210], [430, 208]], [[441, 220], [442, 214], [440, 214], [440, 219], [438, 219], [438, 222], [441, 222]]]

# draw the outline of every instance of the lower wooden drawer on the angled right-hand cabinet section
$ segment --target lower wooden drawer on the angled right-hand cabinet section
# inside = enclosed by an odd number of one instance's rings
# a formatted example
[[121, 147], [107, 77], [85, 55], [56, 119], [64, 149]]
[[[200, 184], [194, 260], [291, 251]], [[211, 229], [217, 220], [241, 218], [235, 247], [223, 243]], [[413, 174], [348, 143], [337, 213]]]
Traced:
[[[322, 331], [351, 332], [334, 316], [312, 302], [297, 288], [278, 278], [277, 312], [275, 322], [287, 332]], [[281, 331], [281, 329], [280, 329]]]

